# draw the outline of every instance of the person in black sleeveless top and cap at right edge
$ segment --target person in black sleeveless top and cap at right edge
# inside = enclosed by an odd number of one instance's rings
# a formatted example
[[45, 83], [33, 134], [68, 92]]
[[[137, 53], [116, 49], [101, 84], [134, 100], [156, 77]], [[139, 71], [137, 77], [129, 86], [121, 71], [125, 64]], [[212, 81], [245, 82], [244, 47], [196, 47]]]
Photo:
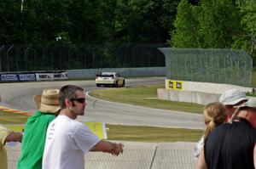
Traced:
[[256, 168], [256, 99], [238, 106], [236, 119], [210, 133], [197, 169]]

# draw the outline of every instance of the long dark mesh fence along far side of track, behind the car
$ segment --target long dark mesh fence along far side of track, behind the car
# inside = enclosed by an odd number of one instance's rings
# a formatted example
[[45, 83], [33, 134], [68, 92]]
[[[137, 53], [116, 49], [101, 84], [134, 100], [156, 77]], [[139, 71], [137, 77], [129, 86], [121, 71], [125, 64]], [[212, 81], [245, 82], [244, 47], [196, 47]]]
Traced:
[[0, 45], [0, 71], [165, 66], [167, 44]]

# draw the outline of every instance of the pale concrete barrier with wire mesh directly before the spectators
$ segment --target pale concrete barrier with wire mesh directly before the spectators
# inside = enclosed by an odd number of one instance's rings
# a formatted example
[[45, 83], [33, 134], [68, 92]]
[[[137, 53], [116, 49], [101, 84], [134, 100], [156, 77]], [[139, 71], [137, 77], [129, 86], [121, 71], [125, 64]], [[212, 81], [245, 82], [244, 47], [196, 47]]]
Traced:
[[[194, 169], [195, 159], [192, 152], [194, 145], [195, 143], [162, 143], [155, 146], [140, 143], [139, 146], [134, 147], [126, 143], [124, 153], [119, 156], [102, 152], [85, 154], [85, 168]], [[6, 146], [6, 149], [9, 169], [16, 169], [20, 156], [20, 144], [15, 147]]]

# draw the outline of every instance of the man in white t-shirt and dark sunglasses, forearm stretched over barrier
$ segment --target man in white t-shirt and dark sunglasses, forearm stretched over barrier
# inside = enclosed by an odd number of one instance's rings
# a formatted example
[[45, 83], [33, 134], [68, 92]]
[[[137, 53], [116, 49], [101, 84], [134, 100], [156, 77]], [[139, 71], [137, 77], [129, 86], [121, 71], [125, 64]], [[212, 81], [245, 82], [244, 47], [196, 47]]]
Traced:
[[47, 130], [43, 169], [84, 169], [84, 154], [88, 151], [119, 155], [123, 144], [101, 140], [88, 127], [76, 121], [84, 115], [84, 89], [74, 85], [61, 87], [61, 112]]

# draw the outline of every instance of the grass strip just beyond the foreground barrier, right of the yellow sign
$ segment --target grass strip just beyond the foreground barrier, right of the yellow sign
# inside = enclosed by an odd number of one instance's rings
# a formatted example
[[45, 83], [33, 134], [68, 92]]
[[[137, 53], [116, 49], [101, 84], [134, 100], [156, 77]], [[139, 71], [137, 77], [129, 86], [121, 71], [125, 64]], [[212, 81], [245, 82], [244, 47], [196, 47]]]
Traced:
[[107, 124], [108, 139], [137, 141], [137, 142], [196, 142], [203, 130], [166, 128], [166, 127], [138, 127]]

